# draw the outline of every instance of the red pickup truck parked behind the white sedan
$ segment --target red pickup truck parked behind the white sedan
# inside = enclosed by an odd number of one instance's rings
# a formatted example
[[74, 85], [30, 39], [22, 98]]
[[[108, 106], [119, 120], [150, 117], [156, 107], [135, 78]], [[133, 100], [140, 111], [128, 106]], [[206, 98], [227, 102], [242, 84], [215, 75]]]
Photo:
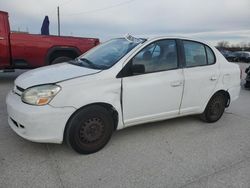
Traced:
[[0, 11], [0, 70], [31, 69], [74, 59], [99, 44], [96, 38], [11, 33]]

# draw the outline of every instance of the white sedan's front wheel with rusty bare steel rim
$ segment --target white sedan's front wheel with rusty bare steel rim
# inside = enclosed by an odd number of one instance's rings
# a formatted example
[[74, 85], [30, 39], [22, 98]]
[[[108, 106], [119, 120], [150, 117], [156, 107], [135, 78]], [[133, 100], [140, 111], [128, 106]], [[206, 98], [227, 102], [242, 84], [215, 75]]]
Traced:
[[70, 118], [65, 139], [76, 152], [91, 154], [108, 143], [113, 130], [111, 113], [102, 106], [93, 105], [79, 110]]

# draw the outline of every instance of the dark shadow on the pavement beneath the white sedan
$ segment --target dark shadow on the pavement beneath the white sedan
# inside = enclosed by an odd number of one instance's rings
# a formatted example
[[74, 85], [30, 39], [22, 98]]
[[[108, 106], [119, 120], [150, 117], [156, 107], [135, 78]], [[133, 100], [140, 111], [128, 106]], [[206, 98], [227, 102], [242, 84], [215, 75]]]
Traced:
[[[107, 154], [113, 148], [117, 148], [117, 145], [128, 145], [129, 143], [127, 143], [127, 141], [130, 140], [129, 142], [131, 143], [131, 139], [135, 141], [136, 138], [138, 138], [138, 142], [141, 142], [140, 140], [143, 137], [158, 139], [162, 138], [162, 134], [164, 133], [166, 133], [167, 138], [168, 134], [171, 135], [173, 132], [174, 134], [177, 134], [176, 130], [183, 130], [183, 128], [185, 130], [190, 130], [188, 132], [189, 134], [192, 134], [192, 132], [196, 132], [194, 129], [192, 129], [192, 127], [197, 127], [198, 130], [196, 129], [196, 131], [203, 131], [204, 129], [211, 129], [213, 126], [212, 124], [201, 121], [196, 115], [139, 124], [115, 131], [108, 144], [102, 150], [92, 155], [98, 155], [98, 153], [102, 153], [101, 155]], [[74, 152], [73, 149], [68, 147], [65, 142], [62, 145], [48, 144], [48, 147], [53, 150], [54, 154], [58, 152], [60, 155], [63, 153], [64, 155], [71, 157], [79, 155], [78, 153]]]

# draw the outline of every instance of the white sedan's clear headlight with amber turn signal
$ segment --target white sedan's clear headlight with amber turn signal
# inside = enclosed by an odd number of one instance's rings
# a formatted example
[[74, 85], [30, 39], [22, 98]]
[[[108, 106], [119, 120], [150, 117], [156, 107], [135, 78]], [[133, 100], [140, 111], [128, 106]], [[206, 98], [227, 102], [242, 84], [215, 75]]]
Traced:
[[28, 104], [42, 106], [48, 104], [61, 90], [57, 85], [41, 85], [26, 89], [22, 101]]

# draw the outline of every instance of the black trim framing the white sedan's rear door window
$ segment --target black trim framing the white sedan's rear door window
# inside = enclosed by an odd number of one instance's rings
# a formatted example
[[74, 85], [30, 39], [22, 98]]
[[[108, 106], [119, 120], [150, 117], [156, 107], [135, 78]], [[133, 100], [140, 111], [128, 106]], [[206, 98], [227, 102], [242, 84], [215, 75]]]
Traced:
[[[205, 65], [195, 65], [195, 66], [187, 66], [187, 63], [186, 63], [186, 55], [185, 55], [185, 48], [184, 48], [184, 41], [187, 41], [187, 42], [194, 42], [194, 43], [198, 43], [198, 44], [201, 44], [203, 45], [204, 47], [204, 50], [205, 50], [205, 54], [206, 54], [206, 64]], [[207, 44], [204, 44], [202, 42], [199, 42], [199, 41], [195, 41], [195, 40], [188, 40], [188, 39], [182, 39], [181, 40], [181, 46], [182, 46], [182, 56], [183, 56], [183, 68], [194, 68], [194, 67], [204, 67], [204, 66], [210, 66], [210, 65], [214, 65], [217, 63], [217, 59], [216, 59], [216, 55], [214, 53], [214, 51], [212, 50], [212, 48], [210, 48]], [[214, 56], [214, 62], [212, 64], [208, 64], [208, 57], [207, 57], [207, 49], [206, 47], [208, 47], [211, 51], [212, 51], [212, 54]]]

